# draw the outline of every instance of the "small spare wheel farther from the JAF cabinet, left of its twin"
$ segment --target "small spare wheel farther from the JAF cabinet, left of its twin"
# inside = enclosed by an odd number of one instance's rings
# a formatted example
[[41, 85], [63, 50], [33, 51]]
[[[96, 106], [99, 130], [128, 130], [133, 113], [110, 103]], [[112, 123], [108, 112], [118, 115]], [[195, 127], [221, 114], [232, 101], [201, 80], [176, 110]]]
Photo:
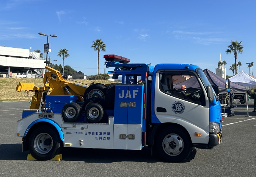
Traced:
[[80, 106], [75, 102], [69, 102], [62, 109], [62, 118], [64, 122], [75, 122], [80, 118]]

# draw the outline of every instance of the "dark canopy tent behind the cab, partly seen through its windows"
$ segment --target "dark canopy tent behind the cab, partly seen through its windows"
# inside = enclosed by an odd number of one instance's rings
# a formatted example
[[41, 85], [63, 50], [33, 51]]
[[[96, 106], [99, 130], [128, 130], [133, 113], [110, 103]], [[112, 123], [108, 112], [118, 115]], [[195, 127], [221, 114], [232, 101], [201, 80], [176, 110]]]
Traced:
[[[205, 69], [203, 70], [204, 74], [208, 78], [210, 84], [212, 85], [212, 88], [214, 89], [215, 93], [222, 94], [227, 93], [226, 92], [226, 79], [221, 78], [220, 76], [214, 74], [212, 71]], [[195, 77], [192, 77], [190, 79], [187, 79], [186, 81], [183, 81], [179, 84], [174, 85], [173, 87], [176, 87], [177, 89], [181, 88], [181, 85], [185, 85], [186, 88], [192, 87], [192, 88], [199, 88], [199, 84], [196, 81]], [[235, 84], [234, 82], [230, 82], [230, 89], [232, 93], [245, 93], [246, 87]]]

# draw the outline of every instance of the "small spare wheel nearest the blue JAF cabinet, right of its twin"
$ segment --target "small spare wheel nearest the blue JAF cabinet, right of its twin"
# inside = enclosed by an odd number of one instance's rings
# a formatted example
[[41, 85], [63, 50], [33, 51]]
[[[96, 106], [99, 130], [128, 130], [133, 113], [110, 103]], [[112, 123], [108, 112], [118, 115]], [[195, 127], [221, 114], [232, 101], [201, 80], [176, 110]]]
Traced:
[[85, 116], [89, 123], [98, 123], [104, 116], [104, 109], [99, 103], [91, 103], [85, 109]]

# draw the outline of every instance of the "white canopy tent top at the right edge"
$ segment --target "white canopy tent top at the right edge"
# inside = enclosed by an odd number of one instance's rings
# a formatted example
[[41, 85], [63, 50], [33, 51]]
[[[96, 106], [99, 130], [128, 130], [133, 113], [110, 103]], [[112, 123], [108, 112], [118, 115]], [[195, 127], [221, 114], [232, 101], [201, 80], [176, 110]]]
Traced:
[[245, 87], [256, 87], [256, 79], [253, 79], [243, 70], [240, 71], [237, 75], [234, 75], [231, 78], [229, 78], [229, 81], [239, 85], [243, 85]]

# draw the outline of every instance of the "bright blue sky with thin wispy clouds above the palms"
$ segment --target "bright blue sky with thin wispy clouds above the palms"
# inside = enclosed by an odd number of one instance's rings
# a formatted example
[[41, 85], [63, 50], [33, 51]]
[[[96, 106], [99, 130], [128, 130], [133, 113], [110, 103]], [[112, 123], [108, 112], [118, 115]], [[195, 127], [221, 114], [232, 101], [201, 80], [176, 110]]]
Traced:
[[[225, 54], [231, 40], [241, 41], [240, 70], [249, 73], [246, 62], [255, 61], [255, 1], [53, 1], [1, 0], [0, 45], [43, 51], [49, 37], [49, 56], [60, 48], [69, 50], [64, 65], [86, 75], [97, 74], [97, 52], [92, 41], [102, 39], [104, 54], [127, 57], [131, 63], [185, 63], [208, 68], [215, 73], [220, 53], [227, 75], [234, 54]], [[108, 69], [106, 69], [108, 71]], [[256, 70], [255, 70], [256, 72]], [[256, 75], [256, 73], [255, 73]]]

